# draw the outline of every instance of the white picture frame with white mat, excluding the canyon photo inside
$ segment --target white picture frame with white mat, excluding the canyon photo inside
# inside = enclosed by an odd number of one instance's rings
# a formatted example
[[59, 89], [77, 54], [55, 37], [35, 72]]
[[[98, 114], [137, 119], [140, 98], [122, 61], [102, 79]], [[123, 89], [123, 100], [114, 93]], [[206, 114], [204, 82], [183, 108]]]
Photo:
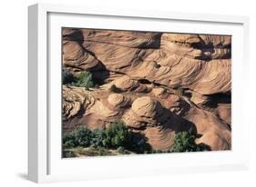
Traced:
[[[102, 22], [100, 23], [100, 20]], [[108, 20], [108, 22], [106, 21]], [[139, 27], [145, 22], [144, 28]], [[36, 4], [28, 8], [28, 178], [63, 182], [124, 176], [218, 172], [249, 168], [249, 122], [241, 86], [248, 79], [249, 18], [79, 5]], [[150, 23], [157, 25], [149, 26]], [[172, 27], [169, 25], [176, 25]], [[167, 26], [169, 25], [169, 26]], [[104, 158], [61, 159], [59, 92], [60, 28], [96, 27], [180, 33], [232, 34], [232, 150], [209, 153], [163, 153]], [[57, 35], [59, 34], [59, 36]], [[59, 75], [59, 76], [58, 76]], [[241, 81], [241, 77], [243, 81]], [[58, 96], [57, 96], [58, 95]], [[53, 117], [55, 116], [55, 117]], [[60, 124], [59, 124], [60, 126]], [[148, 164], [148, 162], [150, 164]], [[76, 171], [76, 172], [74, 172]]]

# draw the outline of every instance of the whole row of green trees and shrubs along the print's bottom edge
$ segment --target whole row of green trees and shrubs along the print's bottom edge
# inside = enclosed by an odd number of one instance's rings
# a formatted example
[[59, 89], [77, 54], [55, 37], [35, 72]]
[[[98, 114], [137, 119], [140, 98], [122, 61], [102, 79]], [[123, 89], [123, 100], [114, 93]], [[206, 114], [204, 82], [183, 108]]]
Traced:
[[[106, 129], [90, 131], [85, 126], [78, 126], [70, 133], [63, 136], [63, 146], [67, 148], [90, 147], [94, 154], [107, 153], [108, 149], [115, 149], [118, 153], [125, 150], [135, 153], [184, 153], [209, 151], [210, 147], [203, 143], [195, 143], [196, 136], [189, 132], [179, 132], [175, 135], [174, 146], [168, 151], [152, 150], [147, 143], [147, 138], [141, 133], [133, 133], [128, 130], [125, 123], [116, 121], [110, 123]], [[100, 151], [100, 152], [99, 152]]]

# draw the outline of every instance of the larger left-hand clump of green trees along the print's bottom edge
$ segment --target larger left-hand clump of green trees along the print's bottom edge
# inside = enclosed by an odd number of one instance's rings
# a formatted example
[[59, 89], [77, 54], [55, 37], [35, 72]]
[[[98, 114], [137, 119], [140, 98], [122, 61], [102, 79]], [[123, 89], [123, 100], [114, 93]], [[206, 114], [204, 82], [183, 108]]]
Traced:
[[130, 150], [137, 153], [149, 151], [150, 146], [144, 135], [132, 133], [128, 130], [125, 123], [116, 121], [110, 123], [106, 129], [96, 129], [90, 131], [87, 127], [78, 126], [70, 133], [65, 133], [63, 136], [64, 148], [94, 147], [116, 149], [118, 153], [123, 153], [124, 150]]

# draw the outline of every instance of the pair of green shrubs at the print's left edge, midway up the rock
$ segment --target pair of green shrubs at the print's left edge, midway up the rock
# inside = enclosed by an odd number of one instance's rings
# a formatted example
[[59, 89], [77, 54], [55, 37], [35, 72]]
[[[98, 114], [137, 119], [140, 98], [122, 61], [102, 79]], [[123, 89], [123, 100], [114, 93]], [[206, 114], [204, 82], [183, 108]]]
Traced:
[[93, 82], [93, 76], [90, 72], [83, 72], [74, 76], [67, 70], [63, 70], [62, 73], [62, 84], [69, 84], [77, 87], [85, 87], [87, 90], [89, 88], [95, 87], [96, 84]]

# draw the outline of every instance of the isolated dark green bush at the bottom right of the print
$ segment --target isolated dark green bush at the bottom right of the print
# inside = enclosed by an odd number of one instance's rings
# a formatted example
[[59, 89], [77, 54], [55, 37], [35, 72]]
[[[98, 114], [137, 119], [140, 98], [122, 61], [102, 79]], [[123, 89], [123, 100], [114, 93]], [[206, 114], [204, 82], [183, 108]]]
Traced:
[[210, 146], [195, 143], [196, 136], [192, 132], [179, 132], [175, 134], [173, 153], [209, 151]]

